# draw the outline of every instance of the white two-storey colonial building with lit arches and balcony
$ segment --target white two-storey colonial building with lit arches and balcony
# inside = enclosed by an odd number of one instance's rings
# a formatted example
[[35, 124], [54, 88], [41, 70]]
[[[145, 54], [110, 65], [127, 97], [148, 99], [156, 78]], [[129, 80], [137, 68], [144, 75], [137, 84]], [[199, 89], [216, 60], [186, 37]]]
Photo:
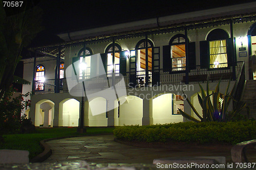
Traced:
[[[209, 79], [214, 90], [222, 77], [224, 92], [229, 79], [234, 84], [243, 75], [256, 78], [249, 69], [256, 51], [255, 11], [253, 2], [60, 34], [65, 43], [34, 48], [34, 58], [24, 60], [24, 79], [33, 83], [24, 85], [23, 93], [35, 91], [26, 114], [44, 127], [77, 127], [81, 107], [84, 126], [183, 122], [178, 108], [194, 115], [186, 97], [202, 113], [198, 83], [205, 86]], [[69, 93], [66, 69], [85, 62], [77, 77], [102, 83], [92, 79], [98, 71], [94, 54], [101, 56], [108, 87], [118, 88], [122, 75], [127, 95], [114, 101], [86, 98], [81, 106], [82, 97]], [[101, 114], [93, 115], [92, 108]]]

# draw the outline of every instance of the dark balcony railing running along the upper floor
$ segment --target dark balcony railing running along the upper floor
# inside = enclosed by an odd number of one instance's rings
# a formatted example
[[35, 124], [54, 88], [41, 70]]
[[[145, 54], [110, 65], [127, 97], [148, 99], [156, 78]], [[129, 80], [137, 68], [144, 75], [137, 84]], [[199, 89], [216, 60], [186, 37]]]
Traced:
[[[243, 62], [237, 62], [236, 64], [236, 79], [239, 78], [243, 66]], [[200, 65], [194, 66], [194, 69], [190, 69], [188, 72], [188, 81], [189, 84], [191, 83], [198, 83], [198, 82], [206, 82], [207, 78], [211, 82], [219, 81], [220, 77], [222, 77], [222, 81], [228, 81], [232, 78], [232, 68], [231, 67], [224, 67], [224, 68], [201, 68]], [[172, 72], [165, 72], [162, 69], [159, 70], [159, 80], [157, 85], [170, 85], [170, 84], [185, 84], [185, 80], [187, 79], [185, 71], [172, 71]], [[136, 75], [136, 76], [135, 76]], [[136, 79], [132, 80], [132, 77]], [[89, 77], [88, 77], [89, 78]], [[115, 79], [112, 76], [108, 76], [108, 81], [104, 78], [91, 78], [86, 79], [86, 86], [90, 86], [90, 84], [100, 84], [106, 83], [105, 88], [112, 87], [115, 85], [116, 88], [120, 87], [145, 87], [146, 86], [146, 71], [137, 71], [135, 72], [126, 72], [126, 75], [123, 76], [124, 81], [120, 81], [122, 77], [120, 77], [119, 73], [115, 74]], [[131, 79], [130, 79], [131, 78]], [[113, 84], [113, 80], [115, 83]], [[60, 87], [59, 92], [68, 92], [68, 85], [67, 80], [59, 79]], [[133, 81], [133, 82], [132, 82]], [[152, 70], [148, 71], [148, 86], [151, 87], [153, 82], [153, 75]], [[69, 82], [74, 83], [77, 85], [76, 80]], [[135, 83], [131, 85], [130, 83]], [[81, 86], [81, 85], [80, 85]], [[38, 88], [39, 87], [39, 88]], [[35, 93], [54, 93], [55, 92], [55, 80], [50, 79], [46, 80], [44, 83], [35, 82]], [[77, 89], [81, 89], [82, 87], [77, 86]]]

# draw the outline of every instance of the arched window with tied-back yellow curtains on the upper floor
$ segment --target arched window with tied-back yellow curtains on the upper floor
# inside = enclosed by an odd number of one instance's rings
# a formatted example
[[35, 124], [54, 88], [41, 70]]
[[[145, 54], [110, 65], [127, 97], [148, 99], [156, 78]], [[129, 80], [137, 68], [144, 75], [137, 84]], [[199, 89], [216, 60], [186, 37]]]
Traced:
[[228, 34], [222, 29], [212, 30], [208, 34], [210, 68], [228, 66], [227, 39]]

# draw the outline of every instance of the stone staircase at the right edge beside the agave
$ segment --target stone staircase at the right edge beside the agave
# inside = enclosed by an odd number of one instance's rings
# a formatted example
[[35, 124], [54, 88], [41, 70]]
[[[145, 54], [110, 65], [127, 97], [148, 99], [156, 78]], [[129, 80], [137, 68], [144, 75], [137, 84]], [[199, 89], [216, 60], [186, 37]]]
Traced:
[[[256, 80], [247, 80], [245, 84], [245, 90], [243, 99], [247, 106], [250, 108], [249, 118], [256, 119]], [[246, 110], [243, 110], [243, 114], [246, 114]]]

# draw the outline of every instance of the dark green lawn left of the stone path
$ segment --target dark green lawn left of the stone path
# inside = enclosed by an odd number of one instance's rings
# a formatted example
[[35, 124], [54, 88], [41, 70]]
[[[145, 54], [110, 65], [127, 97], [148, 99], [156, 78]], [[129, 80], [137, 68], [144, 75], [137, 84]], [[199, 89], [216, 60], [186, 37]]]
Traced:
[[35, 133], [3, 135], [5, 142], [0, 143], [0, 149], [27, 150], [29, 159], [40, 154], [43, 149], [39, 142], [44, 139], [62, 136], [84, 136], [93, 134], [113, 133], [114, 128], [87, 128], [87, 133], [77, 133], [76, 128], [36, 128]]

